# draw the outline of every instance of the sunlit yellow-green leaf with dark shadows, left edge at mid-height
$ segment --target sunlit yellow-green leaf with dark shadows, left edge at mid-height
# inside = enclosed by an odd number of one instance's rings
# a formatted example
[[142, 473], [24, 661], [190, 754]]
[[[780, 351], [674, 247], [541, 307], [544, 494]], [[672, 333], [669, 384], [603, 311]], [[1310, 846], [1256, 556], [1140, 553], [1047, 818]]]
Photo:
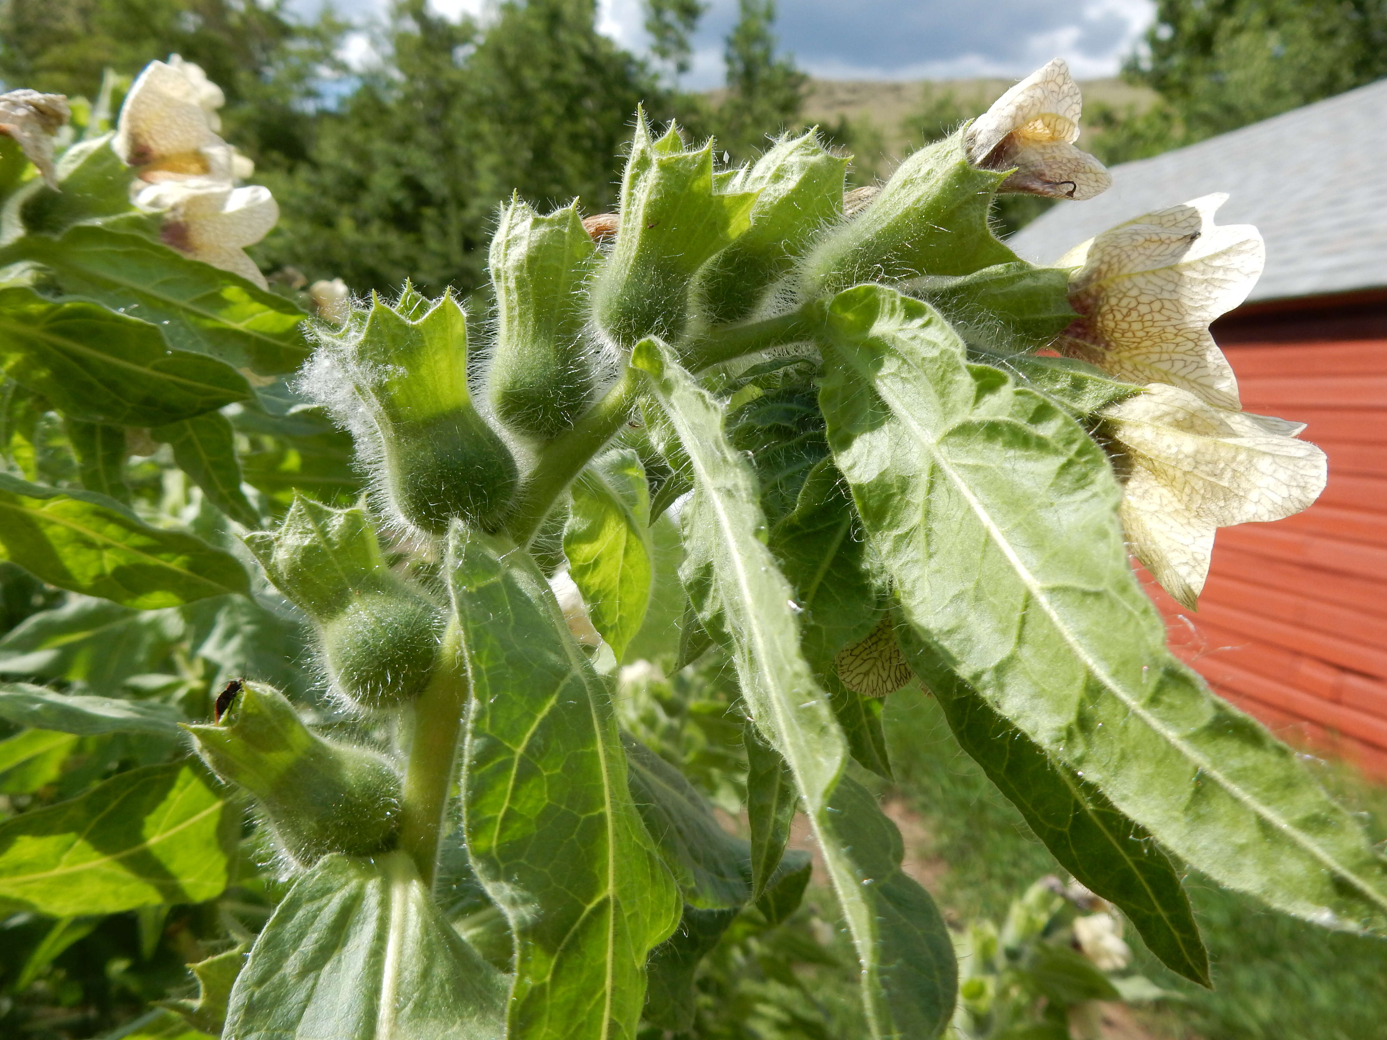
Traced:
[[114, 499], [0, 473], [0, 556], [51, 585], [151, 610], [247, 592], [230, 553], [150, 527]]

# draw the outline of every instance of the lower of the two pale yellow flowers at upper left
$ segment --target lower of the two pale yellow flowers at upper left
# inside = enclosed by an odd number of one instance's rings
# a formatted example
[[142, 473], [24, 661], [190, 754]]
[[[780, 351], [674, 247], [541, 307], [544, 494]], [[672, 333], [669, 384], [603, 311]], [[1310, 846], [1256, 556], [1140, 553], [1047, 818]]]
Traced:
[[166, 245], [266, 287], [245, 247], [264, 239], [279, 219], [269, 189], [190, 177], [148, 184], [135, 201], [165, 214], [160, 237]]

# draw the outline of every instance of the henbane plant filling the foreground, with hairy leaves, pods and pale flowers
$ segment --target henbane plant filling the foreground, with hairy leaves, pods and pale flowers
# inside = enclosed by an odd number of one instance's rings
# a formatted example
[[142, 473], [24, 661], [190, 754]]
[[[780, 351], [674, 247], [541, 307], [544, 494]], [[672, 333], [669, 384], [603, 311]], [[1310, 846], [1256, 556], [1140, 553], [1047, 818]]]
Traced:
[[[216, 907], [198, 998], [150, 1033], [684, 1033], [724, 932], [796, 912], [803, 813], [864, 1034], [981, 1034], [870, 790], [885, 695], [938, 697], [1187, 979], [1180, 864], [1387, 930], [1361, 822], [1171, 656], [1129, 560], [1193, 606], [1219, 524], [1323, 487], [1208, 334], [1259, 237], [1208, 198], [1050, 268], [992, 233], [999, 191], [1108, 183], [1062, 62], [846, 204], [813, 133], [720, 169], [638, 114], [617, 214], [503, 207], [490, 311], [319, 283], [318, 320], [247, 268], [273, 201], [214, 90], [157, 64], [51, 169], [60, 100], [6, 96], [28, 122], [0, 128], [0, 548], [69, 596], [0, 641], [43, 777], [7, 788], [0, 899], [55, 928]], [[97, 616], [137, 660], [58, 652]], [[707, 660], [735, 684], [716, 792], [614, 697]]]

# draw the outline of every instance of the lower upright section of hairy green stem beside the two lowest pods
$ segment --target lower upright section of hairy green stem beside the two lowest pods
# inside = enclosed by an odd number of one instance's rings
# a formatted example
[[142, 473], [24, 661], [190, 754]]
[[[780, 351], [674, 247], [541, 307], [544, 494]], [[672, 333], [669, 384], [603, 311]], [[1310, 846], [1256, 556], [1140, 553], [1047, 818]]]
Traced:
[[399, 814], [399, 847], [419, 868], [424, 885], [433, 885], [438, 861], [448, 792], [458, 757], [458, 732], [467, 704], [467, 677], [462, 666], [462, 634], [451, 621], [444, 632], [438, 668], [415, 700], [415, 734], [405, 770]]

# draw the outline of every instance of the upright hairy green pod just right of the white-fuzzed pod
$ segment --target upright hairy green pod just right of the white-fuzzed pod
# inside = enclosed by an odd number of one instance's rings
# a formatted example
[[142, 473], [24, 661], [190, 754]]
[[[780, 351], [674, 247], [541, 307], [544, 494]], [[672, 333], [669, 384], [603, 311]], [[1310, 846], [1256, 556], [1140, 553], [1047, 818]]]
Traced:
[[576, 207], [540, 216], [519, 198], [501, 211], [491, 240], [497, 345], [488, 394], [516, 433], [551, 438], [573, 426], [592, 397], [583, 344], [596, 247]]

